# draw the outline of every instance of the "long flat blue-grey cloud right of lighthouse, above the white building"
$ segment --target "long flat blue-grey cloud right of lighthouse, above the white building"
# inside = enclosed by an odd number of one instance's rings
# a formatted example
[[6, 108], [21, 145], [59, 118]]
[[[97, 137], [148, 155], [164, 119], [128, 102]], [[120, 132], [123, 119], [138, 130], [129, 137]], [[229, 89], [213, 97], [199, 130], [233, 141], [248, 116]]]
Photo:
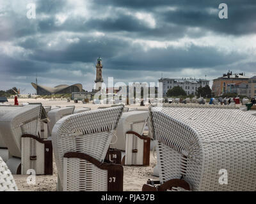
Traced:
[[143, 52], [141, 49], [135, 49], [132, 55], [124, 54], [121, 57], [109, 59], [109, 64], [113, 64], [118, 69], [175, 71], [181, 68], [225, 66], [245, 57], [236, 53], [223, 55], [212, 47], [192, 45], [186, 50], [168, 47], [153, 48]]

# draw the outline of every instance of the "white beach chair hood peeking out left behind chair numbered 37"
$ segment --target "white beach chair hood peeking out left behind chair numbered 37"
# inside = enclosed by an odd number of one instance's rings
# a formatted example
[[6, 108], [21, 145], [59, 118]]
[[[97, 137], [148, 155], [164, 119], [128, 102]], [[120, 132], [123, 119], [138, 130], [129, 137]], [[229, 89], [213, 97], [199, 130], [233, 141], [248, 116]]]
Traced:
[[52, 128], [58, 120], [66, 115], [70, 115], [74, 112], [75, 106], [67, 106], [63, 108], [54, 108], [48, 113], [49, 117], [49, 135], [52, 133]]

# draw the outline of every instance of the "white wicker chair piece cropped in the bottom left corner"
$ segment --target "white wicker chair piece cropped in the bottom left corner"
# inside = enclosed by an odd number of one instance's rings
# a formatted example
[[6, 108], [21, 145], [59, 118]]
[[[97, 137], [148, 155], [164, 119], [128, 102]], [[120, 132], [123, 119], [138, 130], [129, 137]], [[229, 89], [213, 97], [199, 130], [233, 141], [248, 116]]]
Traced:
[[11, 171], [0, 157], [0, 192], [1, 191], [18, 191], [18, 188]]

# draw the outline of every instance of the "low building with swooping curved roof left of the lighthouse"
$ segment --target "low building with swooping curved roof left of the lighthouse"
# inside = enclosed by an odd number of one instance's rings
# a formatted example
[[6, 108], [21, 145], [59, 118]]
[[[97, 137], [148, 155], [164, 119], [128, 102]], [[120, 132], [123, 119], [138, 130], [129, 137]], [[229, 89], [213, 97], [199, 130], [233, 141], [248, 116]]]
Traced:
[[71, 94], [72, 92], [82, 92], [82, 84], [73, 85], [57, 85], [56, 87], [46, 87], [44, 85], [38, 85], [31, 83], [31, 85], [36, 89], [37, 95], [51, 95], [51, 94]]

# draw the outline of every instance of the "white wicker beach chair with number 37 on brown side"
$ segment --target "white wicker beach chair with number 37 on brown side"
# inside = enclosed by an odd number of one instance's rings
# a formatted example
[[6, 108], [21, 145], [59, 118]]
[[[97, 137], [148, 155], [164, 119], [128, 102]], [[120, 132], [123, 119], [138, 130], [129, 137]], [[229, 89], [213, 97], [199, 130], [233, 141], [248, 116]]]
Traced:
[[124, 106], [68, 115], [52, 129], [63, 191], [122, 191], [123, 167], [103, 163]]

